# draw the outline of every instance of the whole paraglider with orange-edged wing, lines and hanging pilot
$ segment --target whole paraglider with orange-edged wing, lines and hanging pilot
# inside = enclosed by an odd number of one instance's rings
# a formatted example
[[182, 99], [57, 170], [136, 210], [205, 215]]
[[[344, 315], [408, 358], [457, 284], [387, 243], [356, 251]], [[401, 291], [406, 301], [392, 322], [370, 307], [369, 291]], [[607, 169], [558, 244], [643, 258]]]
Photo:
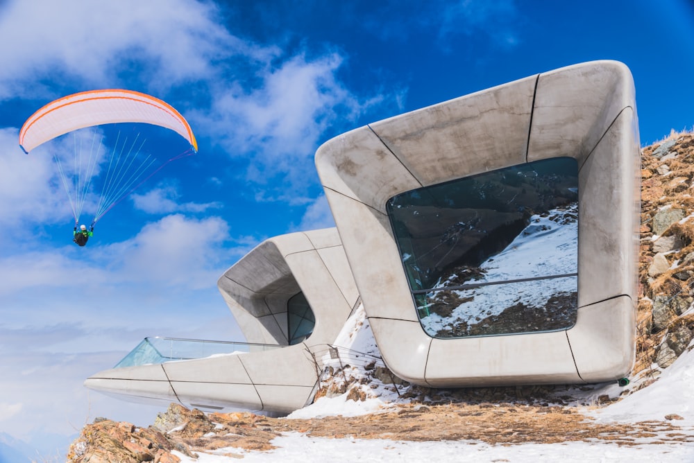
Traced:
[[[136, 130], [123, 134], [121, 127], [125, 125], [135, 125]], [[94, 130], [91, 137], [80, 132], [97, 126], [99, 130]], [[139, 130], [152, 134], [147, 130], [155, 126], [183, 137], [187, 142], [183, 152], [162, 148], [156, 142], [149, 149], [145, 144], [147, 137], [140, 137]], [[109, 138], [113, 127], [118, 128], [117, 134]], [[94, 235], [96, 221], [112, 207], [170, 161], [198, 150], [190, 125], [174, 107], [132, 90], [92, 90], [58, 98], [26, 120], [19, 131], [19, 146], [28, 154], [46, 141], [68, 133], [74, 134], [74, 152], [66, 155], [64, 151], [51, 150], [74, 216], [74, 242], [80, 246], [87, 244]], [[78, 229], [85, 204], [94, 207], [88, 230], [86, 225]]]

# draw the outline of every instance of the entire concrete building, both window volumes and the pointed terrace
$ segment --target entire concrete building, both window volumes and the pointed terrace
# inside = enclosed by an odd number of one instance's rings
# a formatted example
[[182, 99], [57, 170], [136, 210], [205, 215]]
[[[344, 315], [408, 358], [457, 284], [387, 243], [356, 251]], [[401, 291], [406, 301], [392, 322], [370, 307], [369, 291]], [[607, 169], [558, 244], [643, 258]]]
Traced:
[[337, 229], [271, 238], [219, 278], [248, 342], [148, 338], [85, 385], [291, 412], [312, 400], [312, 353], [360, 298], [385, 364], [412, 383], [628, 374], [640, 153], [624, 64], [577, 64], [366, 125], [323, 144], [316, 168]]

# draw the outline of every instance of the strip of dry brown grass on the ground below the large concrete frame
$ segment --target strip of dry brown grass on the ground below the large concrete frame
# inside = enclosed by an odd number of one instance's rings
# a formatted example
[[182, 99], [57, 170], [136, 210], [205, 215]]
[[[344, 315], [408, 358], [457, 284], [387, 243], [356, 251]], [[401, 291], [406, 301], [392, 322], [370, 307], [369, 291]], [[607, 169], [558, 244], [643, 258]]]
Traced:
[[[604, 404], [596, 403], [594, 408]], [[487, 444], [559, 443], [570, 441], [612, 442], [637, 445], [648, 438], [654, 444], [694, 442], [690, 429], [670, 421], [599, 423], [576, 408], [523, 403], [403, 404], [389, 412], [360, 417], [322, 419], [274, 419], [253, 414], [213, 414], [220, 423], [212, 433], [169, 433], [170, 439], [205, 448], [236, 447], [248, 450], [273, 448], [271, 439], [296, 431], [313, 437], [354, 437], [416, 442], [474, 440]]]

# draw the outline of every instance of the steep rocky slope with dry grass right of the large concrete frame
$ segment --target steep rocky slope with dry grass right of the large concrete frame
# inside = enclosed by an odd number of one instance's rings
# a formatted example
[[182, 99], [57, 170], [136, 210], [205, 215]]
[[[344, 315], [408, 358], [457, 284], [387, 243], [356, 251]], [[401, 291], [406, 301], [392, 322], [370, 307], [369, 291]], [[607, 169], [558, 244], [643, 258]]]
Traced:
[[642, 151], [637, 363], [666, 368], [691, 343], [694, 315], [694, 134]]

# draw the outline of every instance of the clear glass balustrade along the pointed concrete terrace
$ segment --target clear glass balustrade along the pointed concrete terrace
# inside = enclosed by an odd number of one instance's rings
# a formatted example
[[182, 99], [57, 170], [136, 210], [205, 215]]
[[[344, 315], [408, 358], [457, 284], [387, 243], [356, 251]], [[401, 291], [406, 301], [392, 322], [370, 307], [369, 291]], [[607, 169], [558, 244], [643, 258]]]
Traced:
[[286, 346], [154, 336], [144, 338], [114, 368], [160, 364], [174, 360], [192, 360], [233, 353], [262, 352], [281, 347]]

